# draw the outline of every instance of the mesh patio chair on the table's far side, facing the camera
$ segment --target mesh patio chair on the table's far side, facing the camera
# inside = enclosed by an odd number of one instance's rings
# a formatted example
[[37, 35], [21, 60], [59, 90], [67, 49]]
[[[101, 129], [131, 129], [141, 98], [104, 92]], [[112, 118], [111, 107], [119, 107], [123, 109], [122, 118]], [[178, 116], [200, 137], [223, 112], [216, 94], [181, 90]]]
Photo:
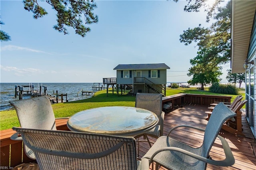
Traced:
[[[153, 138], [158, 138], [163, 135], [164, 131], [164, 112], [162, 111], [162, 95], [159, 93], [137, 93], [136, 94], [136, 102], [135, 107], [147, 109], [155, 113], [158, 117], [158, 125], [154, 127], [152, 130], [146, 132], [145, 134], [141, 134], [139, 136], [135, 136], [134, 138], [139, 139], [141, 136], [144, 137], [144, 140], [138, 141], [138, 154], [140, 149], [140, 142], [148, 142], [151, 147], [150, 140], [148, 136]], [[145, 140], [146, 139], [146, 140]]]

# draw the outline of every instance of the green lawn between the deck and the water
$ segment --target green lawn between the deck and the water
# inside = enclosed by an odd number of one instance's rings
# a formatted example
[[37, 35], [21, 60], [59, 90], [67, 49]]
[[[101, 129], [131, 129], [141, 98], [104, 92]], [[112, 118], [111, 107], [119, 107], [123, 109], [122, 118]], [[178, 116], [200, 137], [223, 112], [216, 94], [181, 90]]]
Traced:
[[[96, 107], [104, 107], [104, 106], [135, 106], [135, 96], [123, 94], [117, 95], [116, 92], [112, 94], [112, 90], [108, 91], [108, 97], [106, 96], [106, 90], [97, 91], [92, 98], [79, 100], [79, 101], [71, 101], [67, 103], [58, 103], [53, 104], [52, 109], [54, 111], [55, 117], [70, 117], [75, 113], [92, 109]], [[210, 93], [206, 88], [204, 91], [198, 90], [196, 88], [178, 88], [171, 89], [166, 88], [166, 96], [174, 95], [178, 93], [190, 93], [190, 94], [203, 94], [203, 95], [227, 95], [227, 94], [218, 94], [218, 93]], [[244, 89], [239, 91], [241, 95], [245, 98]], [[231, 102], [234, 100], [236, 95], [228, 95], [232, 96]], [[245, 106], [244, 106], [245, 107]], [[16, 115], [15, 110], [8, 111], [0, 111], [0, 130], [12, 128], [12, 127], [20, 127], [20, 123], [18, 121], [18, 117]]]

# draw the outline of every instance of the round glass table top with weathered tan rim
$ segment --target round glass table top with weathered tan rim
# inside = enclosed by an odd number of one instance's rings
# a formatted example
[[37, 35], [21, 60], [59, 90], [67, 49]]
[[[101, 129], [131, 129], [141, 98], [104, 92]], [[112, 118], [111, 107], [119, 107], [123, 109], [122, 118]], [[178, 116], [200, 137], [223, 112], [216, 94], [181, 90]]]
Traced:
[[136, 107], [98, 107], [80, 111], [68, 119], [72, 131], [101, 134], [129, 134], [154, 128], [158, 117]]

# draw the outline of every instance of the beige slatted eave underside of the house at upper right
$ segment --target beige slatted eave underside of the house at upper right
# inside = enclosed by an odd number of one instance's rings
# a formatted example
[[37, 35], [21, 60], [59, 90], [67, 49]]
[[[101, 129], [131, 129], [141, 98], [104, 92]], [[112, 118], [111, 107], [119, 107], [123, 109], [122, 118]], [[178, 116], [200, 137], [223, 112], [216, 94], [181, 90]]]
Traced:
[[232, 73], [244, 73], [255, 10], [256, 0], [232, 0]]

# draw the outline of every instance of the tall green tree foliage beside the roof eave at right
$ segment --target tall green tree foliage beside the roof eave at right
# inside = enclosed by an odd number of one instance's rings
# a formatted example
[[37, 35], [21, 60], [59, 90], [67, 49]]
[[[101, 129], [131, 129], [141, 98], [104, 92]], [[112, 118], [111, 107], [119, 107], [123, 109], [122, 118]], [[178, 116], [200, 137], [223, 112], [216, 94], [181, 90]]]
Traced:
[[[192, 2], [195, 2], [192, 4]], [[198, 12], [199, 8], [204, 6], [206, 0], [188, 0], [188, 6], [185, 11]], [[220, 0], [216, 0], [215, 4], [208, 10], [208, 20], [212, 17], [214, 22], [209, 28], [203, 28], [200, 25], [196, 28], [188, 28], [180, 35], [180, 42], [189, 45], [196, 42], [198, 45], [197, 56], [190, 59], [192, 67], [188, 70], [188, 76], [192, 79], [188, 81], [190, 85], [201, 84], [201, 90], [204, 86], [212, 82], [219, 82], [222, 75], [219, 64], [226, 63], [230, 60], [230, 2], [225, 7], [218, 7]], [[213, 13], [218, 10], [218, 13]]]

